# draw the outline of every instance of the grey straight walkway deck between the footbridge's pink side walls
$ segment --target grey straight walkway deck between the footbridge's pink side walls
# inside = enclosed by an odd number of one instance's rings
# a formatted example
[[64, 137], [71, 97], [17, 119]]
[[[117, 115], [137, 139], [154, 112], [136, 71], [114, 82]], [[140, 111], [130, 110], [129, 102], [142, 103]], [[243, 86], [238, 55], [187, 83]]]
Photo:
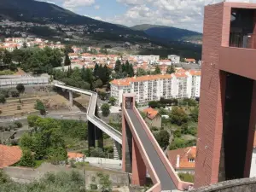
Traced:
[[166, 170], [166, 166], [164, 166], [163, 162], [160, 160], [160, 156], [157, 154], [154, 149], [153, 143], [151, 143], [150, 139], [147, 136], [146, 131], [143, 129], [143, 125], [137, 119], [136, 114], [132, 109], [126, 109], [129, 117], [131, 118], [132, 124], [134, 125], [138, 137], [141, 139], [143, 143], [143, 147], [148, 154], [148, 158], [154, 166], [154, 171], [160, 179], [161, 189], [162, 190], [172, 190], [177, 189], [175, 184], [172, 181], [172, 177]]

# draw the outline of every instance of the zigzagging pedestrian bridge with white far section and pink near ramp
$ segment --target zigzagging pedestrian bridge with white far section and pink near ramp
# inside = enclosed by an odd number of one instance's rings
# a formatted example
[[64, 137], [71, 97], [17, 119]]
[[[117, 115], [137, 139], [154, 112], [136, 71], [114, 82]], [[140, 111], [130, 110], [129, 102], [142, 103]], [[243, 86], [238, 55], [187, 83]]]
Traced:
[[[70, 94], [78, 92], [90, 96], [87, 111], [88, 128], [90, 124], [95, 125], [109, 137], [112, 137], [114, 141], [122, 144], [122, 169], [124, 172], [131, 172], [132, 184], [145, 185], [146, 172], [148, 171], [154, 183], [148, 192], [187, 190], [193, 186], [192, 183], [181, 181], [177, 176], [148, 125], [135, 107], [135, 95], [125, 94], [123, 96], [122, 133], [120, 133], [96, 116], [96, 92], [81, 90], [64, 84], [55, 84], [55, 86], [70, 91]], [[72, 95], [70, 95], [70, 99], [73, 99]], [[89, 133], [89, 137], [95, 137], [95, 135]]]

